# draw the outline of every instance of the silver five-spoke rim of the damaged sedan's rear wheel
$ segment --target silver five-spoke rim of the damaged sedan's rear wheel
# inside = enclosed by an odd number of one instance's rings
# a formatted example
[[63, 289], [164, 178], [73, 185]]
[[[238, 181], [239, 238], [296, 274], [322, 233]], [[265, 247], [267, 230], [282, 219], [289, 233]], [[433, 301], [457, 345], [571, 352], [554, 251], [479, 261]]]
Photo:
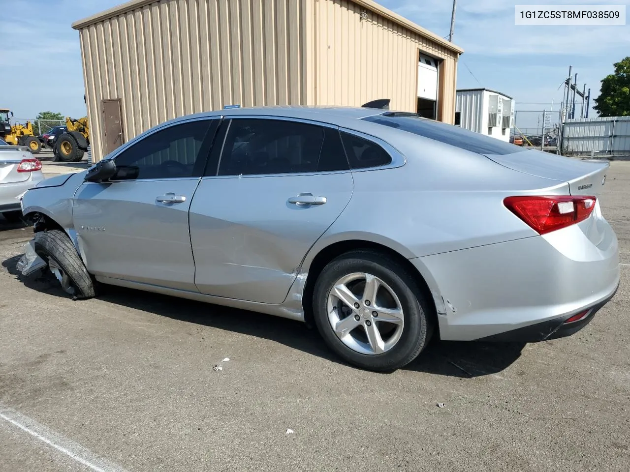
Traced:
[[326, 311], [336, 336], [360, 354], [383, 354], [403, 334], [403, 306], [396, 292], [372, 274], [338, 279], [328, 294]]

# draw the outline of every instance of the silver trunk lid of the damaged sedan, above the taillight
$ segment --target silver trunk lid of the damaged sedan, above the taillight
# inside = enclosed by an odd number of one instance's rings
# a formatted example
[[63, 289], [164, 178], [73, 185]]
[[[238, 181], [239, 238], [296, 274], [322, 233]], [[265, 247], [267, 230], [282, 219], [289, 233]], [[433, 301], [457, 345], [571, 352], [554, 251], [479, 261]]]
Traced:
[[573, 159], [534, 149], [505, 155], [488, 154], [486, 157], [514, 171], [564, 181], [569, 184], [571, 195], [599, 197], [610, 167], [607, 160]]

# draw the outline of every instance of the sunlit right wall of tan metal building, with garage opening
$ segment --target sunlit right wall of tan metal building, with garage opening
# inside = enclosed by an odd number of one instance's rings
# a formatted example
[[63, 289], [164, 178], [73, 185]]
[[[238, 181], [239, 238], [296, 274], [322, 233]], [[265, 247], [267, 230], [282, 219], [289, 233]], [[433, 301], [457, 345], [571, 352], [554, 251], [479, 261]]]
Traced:
[[316, 104], [357, 106], [391, 98], [392, 109], [416, 111], [420, 49], [444, 59], [438, 72], [438, 119], [453, 122], [454, 52], [353, 1], [307, 1], [313, 11]]

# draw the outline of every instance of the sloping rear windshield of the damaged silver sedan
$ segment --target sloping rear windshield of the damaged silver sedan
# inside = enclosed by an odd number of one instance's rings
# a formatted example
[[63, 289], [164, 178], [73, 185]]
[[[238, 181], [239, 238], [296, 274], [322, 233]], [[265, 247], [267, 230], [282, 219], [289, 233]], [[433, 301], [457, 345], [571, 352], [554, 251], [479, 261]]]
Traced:
[[459, 126], [447, 125], [439, 121], [427, 120], [413, 115], [374, 115], [362, 118], [379, 125], [398, 128], [418, 136], [433, 139], [435, 141], [450, 144], [467, 151], [478, 154], [514, 154], [525, 149], [503, 142], [497, 138], [474, 133], [459, 128]]

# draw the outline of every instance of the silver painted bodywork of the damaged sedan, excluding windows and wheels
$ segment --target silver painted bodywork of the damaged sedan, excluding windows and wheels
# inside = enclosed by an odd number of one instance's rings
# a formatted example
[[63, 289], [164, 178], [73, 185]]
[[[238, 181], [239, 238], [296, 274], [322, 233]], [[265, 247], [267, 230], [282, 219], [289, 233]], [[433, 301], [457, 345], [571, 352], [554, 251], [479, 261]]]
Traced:
[[[394, 158], [381, 169], [112, 184], [83, 184], [76, 176], [26, 193], [25, 212], [41, 211], [69, 234], [76, 230], [97, 280], [297, 320], [304, 318], [314, 257], [348, 240], [384, 245], [418, 269], [442, 339], [534, 325], [614, 293], [617, 239], [599, 201], [584, 222], [542, 236], [503, 205], [514, 195], [597, 196], [608, 163], [517, 147], [486, 156], [359, 119], [381, 113], [326, 107], [201, 113], [163, 123], [106, 156], [115, 159], [137, 140], [186, 120], [260, 116], [378, 140]], [[190, 195], [186, 205], [158, 212], [154, 198], [175, 190]], [[288, 198], [299, 193], [325, 196], [326, 204], [291, 208]], [[99, 227], [105, 230], [92, 229]]]

